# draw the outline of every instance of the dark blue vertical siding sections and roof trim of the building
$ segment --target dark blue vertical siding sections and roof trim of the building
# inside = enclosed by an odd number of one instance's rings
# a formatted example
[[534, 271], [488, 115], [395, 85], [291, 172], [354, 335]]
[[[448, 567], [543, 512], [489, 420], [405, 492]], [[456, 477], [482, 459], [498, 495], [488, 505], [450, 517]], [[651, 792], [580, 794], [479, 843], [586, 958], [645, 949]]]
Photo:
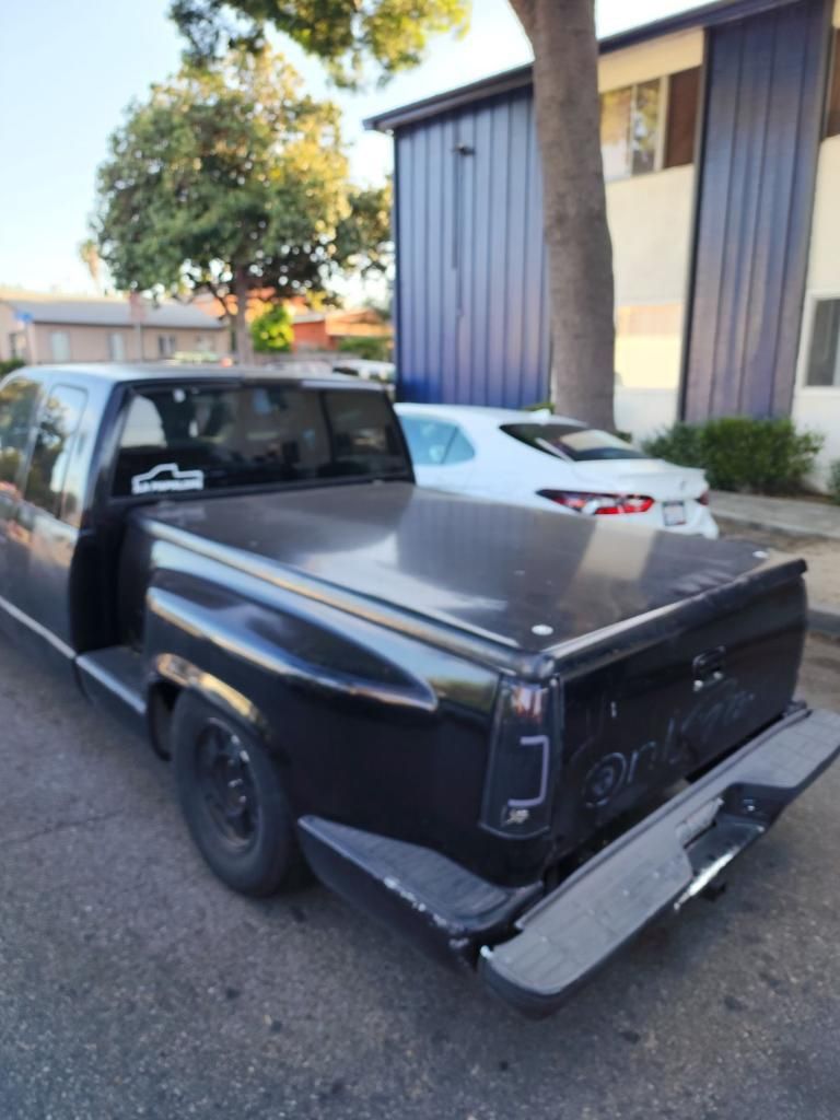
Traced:
[[[724, 0], [601, 43], [604, 58], [689, 28], [704, 36], [674, 388], [689, 419], [791, 409], [831, 11], [832, 0]], [[368, 122], [394, 136], [403, 399], [548, 395], [532, 105], [523, 67]]]

